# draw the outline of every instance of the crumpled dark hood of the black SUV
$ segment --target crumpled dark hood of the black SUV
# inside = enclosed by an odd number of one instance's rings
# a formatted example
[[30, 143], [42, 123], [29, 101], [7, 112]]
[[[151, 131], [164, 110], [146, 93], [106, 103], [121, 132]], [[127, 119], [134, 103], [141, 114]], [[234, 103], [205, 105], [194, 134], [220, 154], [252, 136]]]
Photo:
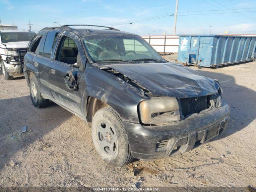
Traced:
[[219, 84], [196, 70], [172, 62], [110, 64], [109, 67], [138, 82], [153, 96], [188, 98], [218, 93]]

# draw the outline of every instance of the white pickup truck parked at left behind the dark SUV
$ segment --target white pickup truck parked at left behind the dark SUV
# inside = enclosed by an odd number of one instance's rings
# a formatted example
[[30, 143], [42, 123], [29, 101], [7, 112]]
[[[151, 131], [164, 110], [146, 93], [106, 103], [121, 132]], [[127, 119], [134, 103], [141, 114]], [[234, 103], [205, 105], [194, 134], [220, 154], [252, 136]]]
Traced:
[[23, 58], [34, 32], [0, 30], [0, 64], [5, 80], [23, 75]]

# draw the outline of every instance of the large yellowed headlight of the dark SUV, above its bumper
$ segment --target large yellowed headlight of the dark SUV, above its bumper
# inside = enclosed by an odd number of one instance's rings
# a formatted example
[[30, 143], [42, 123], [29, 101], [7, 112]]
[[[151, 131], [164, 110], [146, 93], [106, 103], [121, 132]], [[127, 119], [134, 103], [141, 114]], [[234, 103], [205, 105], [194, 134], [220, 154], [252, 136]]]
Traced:
[[172, 97], [144, 100], [139, 104], [139, 112], [144, 124], [167, 124], [180, 120], [178, 101]]

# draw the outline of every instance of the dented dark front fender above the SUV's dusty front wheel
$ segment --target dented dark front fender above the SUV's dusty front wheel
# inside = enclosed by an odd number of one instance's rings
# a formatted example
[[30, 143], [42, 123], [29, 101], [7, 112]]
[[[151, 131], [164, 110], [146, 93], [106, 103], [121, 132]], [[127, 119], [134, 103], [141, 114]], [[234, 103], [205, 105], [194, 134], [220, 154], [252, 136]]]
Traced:
[[123, 120], [139, 123], [137, 106], [146, 99], [141, 90], [89, 63], [84, 77], [84, 98], [97, 98], [114, 108]]

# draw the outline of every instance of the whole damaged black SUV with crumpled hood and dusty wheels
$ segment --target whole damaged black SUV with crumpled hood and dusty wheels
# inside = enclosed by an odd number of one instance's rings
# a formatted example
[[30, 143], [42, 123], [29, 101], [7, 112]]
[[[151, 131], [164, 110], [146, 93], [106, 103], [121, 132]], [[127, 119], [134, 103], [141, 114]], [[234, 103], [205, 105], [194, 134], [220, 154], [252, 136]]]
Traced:
[[82, 27], [40, 30], [24, 74], [34, 106], [52, 100], [92, 122], [105, 162], [122, 166], [132, 158], [180, 154], [226, 128], [230, 108], [216, 80], [164, 60], [138, 35]]

